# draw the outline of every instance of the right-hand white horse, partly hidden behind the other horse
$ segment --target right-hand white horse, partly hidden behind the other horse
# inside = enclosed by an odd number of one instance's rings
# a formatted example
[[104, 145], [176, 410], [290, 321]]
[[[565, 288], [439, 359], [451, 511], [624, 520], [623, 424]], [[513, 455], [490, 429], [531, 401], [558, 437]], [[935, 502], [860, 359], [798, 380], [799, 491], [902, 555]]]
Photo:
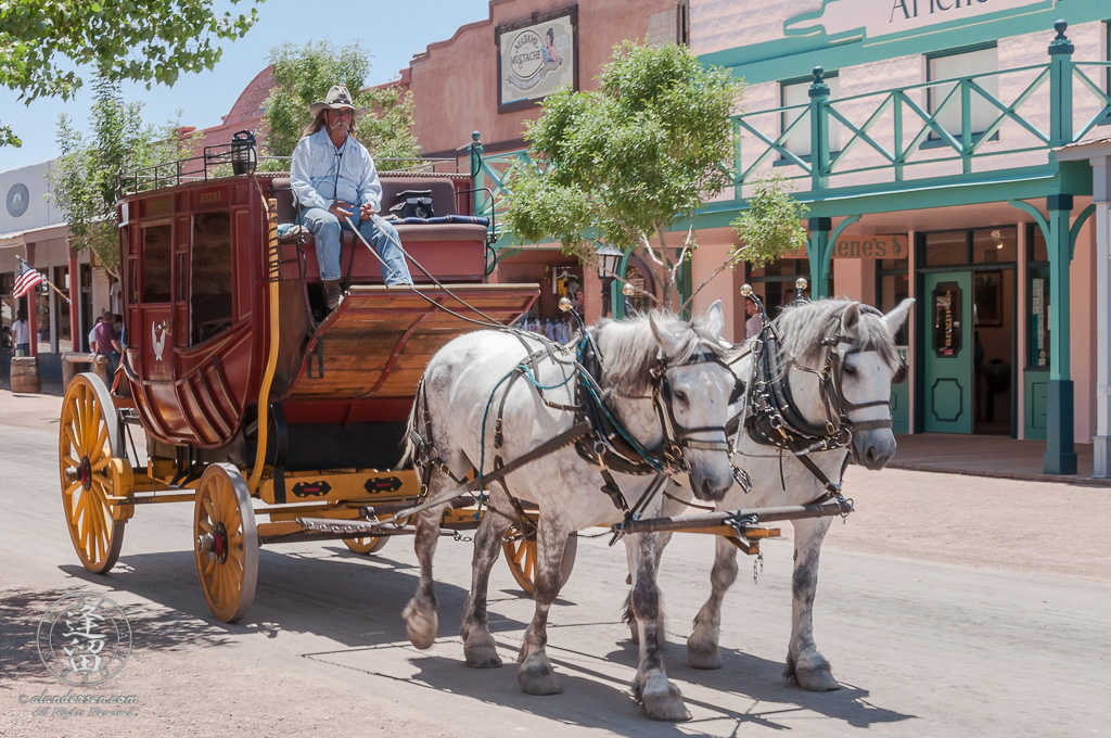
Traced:
[[[905, 366], [895, 350], [894, 335], [907, 320], [913, 299], [903, 300], [882, 315], [875, 308], [848, 300], [817, 300], [787, 308], [773, 322], [779, 336], [761, 345], [751, 339], [731, 363], [745, 385], [734, 418], [741, 422], [733, 462], [751, 481], [745, 490], [734, 485], [718, 501], [719, 510], [808, 505], [839, 493], [841, 475], [850, 460], [867, 469], [882, 469], [895, 452], [891, 431], [891, 383]], [[769, 333], [765, 331], [763, 337]], [[758, 366], [761, 352], [770, 361]], [[771, 376], [767, 376], [768, 370]], [[777, 381], [779, 379], [780, 381]], [[784, 441], [768, 423], [768, 413], [780, 406], [785, 421]], [[791, 406], [784, 408], [784, 406]], [[758, 417], [762, 416], [762, 417]], [[774, 442], [772, 442], [774, 441]], [[838, 448], [848, 441], [848, 446]], [[832, 446], [831, 450], [811, 450]], [[813, 469], [807, 466], [812, 462]], [[674, 480], [672, 498], [689, 499]], [[682, 507], [681, 505], [679, 506]], [[675, 505], [664, 505], [665, 515]], [[811, 691], [838, 689], [829, 662], [818, 651], [813, 636], [813, 605], [818, 589], [818, 557], [831, 517], [800, 518], [794, 528], [791, 638], [784, 676]], [[670, 533], [658, 533], [662, 552]], [[737, 579], [737, 548], [724, 537], [717, 539], [710, 574], [710, 598], [694, 618], [687, 639], [687, 659], [699, 669], [721, 666], [719, 649], [721, 606]], [[661, 616], [662, 617], [662, 616]], [[663, 632], [662, 621], [657, 626]], [[639, 637], [633, 631], [633, 639]]]

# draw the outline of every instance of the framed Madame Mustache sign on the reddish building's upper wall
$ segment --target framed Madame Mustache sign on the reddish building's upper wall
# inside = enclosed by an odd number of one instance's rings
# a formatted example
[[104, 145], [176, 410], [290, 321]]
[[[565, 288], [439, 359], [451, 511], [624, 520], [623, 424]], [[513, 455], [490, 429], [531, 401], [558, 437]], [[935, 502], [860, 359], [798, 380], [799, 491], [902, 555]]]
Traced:
[[579, 89], [578, 6], [494, 29], [498, 112], [531, 108], [561, 87]]

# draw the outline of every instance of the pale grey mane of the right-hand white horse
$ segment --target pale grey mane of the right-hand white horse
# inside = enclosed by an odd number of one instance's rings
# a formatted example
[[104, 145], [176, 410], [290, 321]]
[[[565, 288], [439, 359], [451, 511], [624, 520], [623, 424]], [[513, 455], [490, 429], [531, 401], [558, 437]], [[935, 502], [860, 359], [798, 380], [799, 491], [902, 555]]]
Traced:
[[[824, 351], [822, 341], [837, 330], [842, 313], [855, 300], [839, 298], [798, 302], [783, 308], [774, 320], [780, 336], [780, 351], [784, 362], [814, 366]], [[892, 368], [899, 366], [895, 338], [883, 322], [883, 313], [863, 302], [857, 327], [857, 348], [877, 351]]]

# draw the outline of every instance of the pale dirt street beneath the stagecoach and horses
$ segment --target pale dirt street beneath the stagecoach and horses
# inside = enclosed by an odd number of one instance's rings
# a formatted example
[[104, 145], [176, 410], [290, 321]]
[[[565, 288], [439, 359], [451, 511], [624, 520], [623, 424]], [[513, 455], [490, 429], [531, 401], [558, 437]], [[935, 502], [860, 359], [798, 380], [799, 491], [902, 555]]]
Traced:
[[[339, 541], [264, 548], [253, 607], [237, 625], [209, 616], [189, 503], [140, 509], [116, 569], [86, 572], [62, 520], [57, 421], [49, 402], [20, 413], [19, 399], [0, 397], [2, 736], [1107, 735], [1105, 532], [1098, 543], [1078, 542], [1062, 523], [1047, 539], [1053, 520], [1029, 521], [1023, 530], [1013, 520], [1031, 516], [1017, 516], [955, 536], [947, 521], [959, 511], [900, 517], [900, 505], [914, 510], [911, 498], [922, 497], [915, 489], [939, 490], [947, 497], [938, 503], [952, 506], [947, 500], [963, 486], [969, 499], [1004, 495], [1017, 508], [1052, 493], [1079, 496], [1073, 503], [1089, 509], [1074, 511], [1077, 529], [1105, 531], [1107, 490], [852, 470], [860, 512], [830, 533], [815, 605], [815, 637], [842, 685], [825, 694], [781, 677], [790, 527], [783, 539], [764, 543], [759, 584], [753, 560], [742, 557], [715, 671], [690, 668], [684, 648], [709, 590], [712, 540], [677, 536], [662, 566], [664, 655], [692, 720], [671, 725], [644, 719], [629, 695], [637, 650], [620, 622], [624, 552], [610, 548], [608, 536], [582, 538], [551, 611], [549, 652], [564, 691], [530, 697], [518, 687], [514, 659], [531, 602], [502, 564], [490, 607], [506, 666], [478, 671], [463, 662], [457, 630], [469, 584], [467, 541], [440, 543], [440, 638], [428, 651], [409, 645], [400, 617], [417, 582], [407, 539], [372, 556]], [[122, 710], [128, 715], [96, 715], [86, 706], [67, 716], [31, 702], [71, 689], [44, 668], [37, 628], [51, 602], [76, 591], [117, 602], [133, 648], [118, 676], [74, 691], [133, 696]]]

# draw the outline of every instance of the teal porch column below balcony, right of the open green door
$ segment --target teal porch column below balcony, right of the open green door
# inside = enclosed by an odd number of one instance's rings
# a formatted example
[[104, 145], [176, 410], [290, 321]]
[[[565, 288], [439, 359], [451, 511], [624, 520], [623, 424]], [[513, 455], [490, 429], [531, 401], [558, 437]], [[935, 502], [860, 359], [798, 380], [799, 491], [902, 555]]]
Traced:
[[1077, 473], [1077, 452], [1072, 437], [1073, 389], [1069, 367], [1069, 266], [1072, 238], [1069, 213], [1071, 195], [1051, 195], [1049, 209], [1049, 382], [1045, 386], [1045, 456], [1042, 468], [1048, 475]]

